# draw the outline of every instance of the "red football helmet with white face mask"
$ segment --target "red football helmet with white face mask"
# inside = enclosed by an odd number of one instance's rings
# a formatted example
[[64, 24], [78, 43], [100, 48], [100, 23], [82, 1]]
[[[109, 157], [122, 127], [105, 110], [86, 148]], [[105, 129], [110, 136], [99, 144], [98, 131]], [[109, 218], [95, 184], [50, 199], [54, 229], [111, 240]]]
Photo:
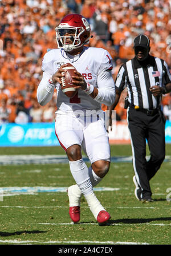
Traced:
[[87, 19], [80, 14], [66, 15], [55, 31], [58, 47], [64, 51], [72, 51], [89, 43], [90, 26]]

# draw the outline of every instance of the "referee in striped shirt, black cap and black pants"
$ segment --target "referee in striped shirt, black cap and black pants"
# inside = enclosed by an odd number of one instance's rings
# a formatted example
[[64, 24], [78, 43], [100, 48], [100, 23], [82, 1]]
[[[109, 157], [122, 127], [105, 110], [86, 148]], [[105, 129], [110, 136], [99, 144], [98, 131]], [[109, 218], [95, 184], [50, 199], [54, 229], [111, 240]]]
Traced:
[[[146, 35], [135, 38], [134, 50], [135, 58], [124, 63], [117, 74], [116, 100], [109, 109], [111, 113], [127, 87], [125, 108], [135, 171], [135, 196], [143, 202], [152, 202], [149, 181], [165, 159], [165, 117], [160, 101], [162, 94], [171, 91], [171, 75], [164, 60], [149, 54], [150, 40]], [[146, 161], [146, 140], [149, 161]]]

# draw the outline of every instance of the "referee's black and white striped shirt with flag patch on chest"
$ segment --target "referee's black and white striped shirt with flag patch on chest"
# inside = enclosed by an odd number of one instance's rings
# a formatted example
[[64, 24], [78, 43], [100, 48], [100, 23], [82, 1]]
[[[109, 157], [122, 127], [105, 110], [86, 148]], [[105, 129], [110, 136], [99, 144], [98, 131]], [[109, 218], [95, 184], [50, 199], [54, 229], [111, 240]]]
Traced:
[[124, 63], [117, 74], [115, 86], [120, 92], [127, 87], [129, 103], [144, 109], [155, 109], [160, 104], [161, 96], [153, 96], [149, 88], [164, 87], [170, 82], [168, 64], [149, 55], [146, 66], [141, 66], [136, 57]]

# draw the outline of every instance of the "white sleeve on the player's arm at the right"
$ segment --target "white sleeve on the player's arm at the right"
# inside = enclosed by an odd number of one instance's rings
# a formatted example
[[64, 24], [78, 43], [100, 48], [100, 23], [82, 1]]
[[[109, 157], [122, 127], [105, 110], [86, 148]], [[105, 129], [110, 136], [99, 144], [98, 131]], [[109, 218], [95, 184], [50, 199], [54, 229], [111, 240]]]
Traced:
[[115, 82], [112, 72], [109, 70], [102, 71], [97, 77], [98, 94], [94, 100], [107, 106], [112, 105], [115, 101]]

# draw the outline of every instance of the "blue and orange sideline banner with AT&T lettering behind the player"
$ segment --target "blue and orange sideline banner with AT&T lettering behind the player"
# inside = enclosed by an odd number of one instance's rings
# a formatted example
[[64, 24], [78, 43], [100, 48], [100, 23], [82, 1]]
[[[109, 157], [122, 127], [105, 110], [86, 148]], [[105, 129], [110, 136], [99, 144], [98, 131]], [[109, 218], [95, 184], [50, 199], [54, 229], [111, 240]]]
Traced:
[[[171, 143], [171, 122], [166, 121], [166, 143]], [[117, 121], [109, 131], [110, 144], [130, 144], [127, 121]], [[2, 124], [0, 147], [59, 146], [54, 123]]]

